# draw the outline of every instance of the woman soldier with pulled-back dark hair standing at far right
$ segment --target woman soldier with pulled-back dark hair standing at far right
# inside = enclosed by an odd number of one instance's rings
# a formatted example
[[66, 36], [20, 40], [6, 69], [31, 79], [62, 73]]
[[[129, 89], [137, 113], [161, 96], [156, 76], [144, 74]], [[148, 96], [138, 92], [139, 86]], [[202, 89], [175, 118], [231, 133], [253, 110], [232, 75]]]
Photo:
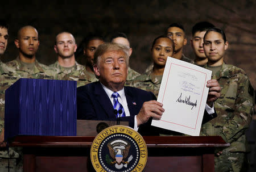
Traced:
[[228, 48], [225, 33], [218, 28], [210, 28], [204, 36], [204, 51], [208, 58], [207, 69], [213, 71], [222, 88], [221, 97], [214, 103], [217, 118], [205, 123], [202, 136], [221, 136], [230, 143], [229, 148], [216, 152], [215, 171], [243, 171], [247, 142], [245, 131], [253, 115], [254, 90], [245, 72], [224, 63]]

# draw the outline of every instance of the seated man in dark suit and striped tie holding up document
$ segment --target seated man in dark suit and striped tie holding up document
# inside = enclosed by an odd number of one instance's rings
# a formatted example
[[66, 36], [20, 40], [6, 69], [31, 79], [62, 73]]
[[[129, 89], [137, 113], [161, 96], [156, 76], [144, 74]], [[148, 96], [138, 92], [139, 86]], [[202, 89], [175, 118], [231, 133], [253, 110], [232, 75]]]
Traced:
[[[94, 72], [99, 82], [77, 89], [77, 119], [116, 120], [121, 117], [137, 130], [138, 127], [143, 129], [143, 125], [149, 125], [152, 118], [161, 118], [163, 104], [156, 101], [154, 94], [124, 86], [128, 60], [129, 49], [125, 45], [105, 43], [97, 48]], [[211, 95], [208, 102], [213, 102], [220, 97], [220, 86], [216, 81], [209, 82], [208, 87]]]

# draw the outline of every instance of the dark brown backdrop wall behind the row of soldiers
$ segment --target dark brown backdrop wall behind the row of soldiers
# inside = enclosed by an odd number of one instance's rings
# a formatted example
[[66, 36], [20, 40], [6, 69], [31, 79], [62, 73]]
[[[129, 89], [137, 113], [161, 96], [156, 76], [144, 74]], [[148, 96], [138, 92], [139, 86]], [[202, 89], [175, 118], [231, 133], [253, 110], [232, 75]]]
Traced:
[[[4, 2], [1, 2], [4, 3]], [[72, 4], [71, 4], [72, 3]], [[130, 66], [143, 72], [150, 64], [150, 47], [156, 36], [162, 35], [168, 24], [184, 24], [187, 37], [191, 39], [191, 28], [196, 22], [208, 20], [225, 30], [229, 49], [225, 61], [246, 71], [254, 88], [256, 66], [256, 2], [243, 1], [9, 1], [1, 4], [1, 18], [10, 23], [10, 40], [2, 61], [13, 60], [17, 51], [14, 39], [18, 29], [31, 24], [39, 32], [40, 47], [37, 58], [43, 64], [56, 60], [53, 51], [55, 36], [69, 31], [77, 44], [89, 32], [102, 35], [125, 32], [131, 41], [133, 54]], [[191, 45], [184, 54], [194, 58]], [[82, 56], [78, 61], [82, 62]]]

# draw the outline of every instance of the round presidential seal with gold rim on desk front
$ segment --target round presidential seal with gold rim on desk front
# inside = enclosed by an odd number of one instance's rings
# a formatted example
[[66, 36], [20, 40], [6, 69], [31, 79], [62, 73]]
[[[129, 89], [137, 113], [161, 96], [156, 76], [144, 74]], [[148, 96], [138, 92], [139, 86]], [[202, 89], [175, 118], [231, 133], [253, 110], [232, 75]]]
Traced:
[[147, 162], [147, 146], [134, 129], [114, 125], [95, 137], [90, 160], [96, 171], [142, 171]]

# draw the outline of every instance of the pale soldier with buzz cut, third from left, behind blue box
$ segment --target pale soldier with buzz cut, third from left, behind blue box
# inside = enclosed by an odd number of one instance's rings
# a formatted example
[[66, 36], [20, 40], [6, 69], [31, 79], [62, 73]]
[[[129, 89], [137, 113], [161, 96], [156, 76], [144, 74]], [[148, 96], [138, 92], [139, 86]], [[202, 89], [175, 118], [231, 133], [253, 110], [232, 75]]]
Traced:
[[89, 74], [85, 70], [85, 66], [80, 65], [75, 60], [75, 52], [77, 49], [76, 40], [69, 32], [61, 32], [56, 36], [55, 52], [57, 53], [57, 61], [49, 65], [55, 70], [55, 78], [62, 80], [77, 81], [77, 86], [90, 83]]

